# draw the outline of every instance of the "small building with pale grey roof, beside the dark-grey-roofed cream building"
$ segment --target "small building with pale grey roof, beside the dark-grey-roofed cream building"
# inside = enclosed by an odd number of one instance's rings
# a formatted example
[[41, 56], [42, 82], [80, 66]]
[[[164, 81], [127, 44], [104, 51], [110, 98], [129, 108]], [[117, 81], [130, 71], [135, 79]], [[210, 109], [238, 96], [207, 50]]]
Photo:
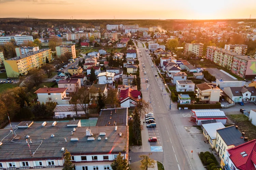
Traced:
[[207, 138], [211, 148], [215, 148], [217, 130], [225, 128], [225, 126], [222, 124], [222, 122], [216, 122], [216, 121], [214, 123], [202, 124], [202, 126], [203, 126], [203, 136]]

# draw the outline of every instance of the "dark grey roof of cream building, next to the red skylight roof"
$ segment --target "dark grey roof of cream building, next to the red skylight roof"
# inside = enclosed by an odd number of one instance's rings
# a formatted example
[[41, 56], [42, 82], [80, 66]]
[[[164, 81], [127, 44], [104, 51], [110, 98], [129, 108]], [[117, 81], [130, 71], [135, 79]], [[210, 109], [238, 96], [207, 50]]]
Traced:
[[238, 146], [245, 142], [244, 139], [241, 138], [242, 133], [238, 129], [236, 129], [236, 126], [234, 125], [228, 126], [223, 129], [218, 129], [217, 132], [219, 136], [222, 137], [227, 146]]

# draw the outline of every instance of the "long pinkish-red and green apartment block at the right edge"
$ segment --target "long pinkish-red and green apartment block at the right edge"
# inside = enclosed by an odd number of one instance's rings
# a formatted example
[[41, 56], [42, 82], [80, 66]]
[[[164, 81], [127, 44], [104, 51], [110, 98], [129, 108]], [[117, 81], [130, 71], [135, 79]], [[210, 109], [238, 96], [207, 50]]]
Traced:
[[243, 79], [253, 79], [256, 76], [256, 59], [250, 56], [208, 46], [206, 58], [219, 66], [227, 68]]

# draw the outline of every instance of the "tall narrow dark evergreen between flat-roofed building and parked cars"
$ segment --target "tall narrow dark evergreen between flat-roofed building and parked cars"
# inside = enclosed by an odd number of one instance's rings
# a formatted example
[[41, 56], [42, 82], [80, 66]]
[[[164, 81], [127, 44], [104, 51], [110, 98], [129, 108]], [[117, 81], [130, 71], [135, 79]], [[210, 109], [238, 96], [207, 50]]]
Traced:
[[137, 107], [135, 107], [135, 110], [133, 112], [133, 123], [132, 123], [132, 132], [135, 140], [137, 141], [137, 145], [139, 140], [141, 140], [141, 121], [140, 121], [140, 115], [138, 113]]

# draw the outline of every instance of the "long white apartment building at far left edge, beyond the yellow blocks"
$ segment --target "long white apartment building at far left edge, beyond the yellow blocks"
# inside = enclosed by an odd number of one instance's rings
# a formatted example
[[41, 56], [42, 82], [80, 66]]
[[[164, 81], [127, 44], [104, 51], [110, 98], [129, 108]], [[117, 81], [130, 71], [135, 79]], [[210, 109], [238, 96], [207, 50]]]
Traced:
[[27, 41], [34, 41], [32, 36], [27, 35], [16, 35], [16, 36], [2, 36], [0, 37], [0, 45], [4, 45], [4, 43], [10, 42], [11, 39], [14, 39], [17, 46], [20, 46]]

